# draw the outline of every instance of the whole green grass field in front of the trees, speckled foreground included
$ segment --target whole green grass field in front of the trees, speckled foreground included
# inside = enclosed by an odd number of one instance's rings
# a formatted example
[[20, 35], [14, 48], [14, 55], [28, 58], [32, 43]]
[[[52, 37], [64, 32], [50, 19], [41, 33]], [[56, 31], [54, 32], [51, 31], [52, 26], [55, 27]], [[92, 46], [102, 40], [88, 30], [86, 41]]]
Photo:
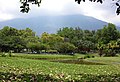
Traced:
[[[80, 57], [84, 55], [16, 53], [14, 57], [0, 57], [0, 81], [120, 82], [120, 57], [95, 57], [79, 60]], [[78, 60], [83, 64], [51, 62], [52, 60]]]

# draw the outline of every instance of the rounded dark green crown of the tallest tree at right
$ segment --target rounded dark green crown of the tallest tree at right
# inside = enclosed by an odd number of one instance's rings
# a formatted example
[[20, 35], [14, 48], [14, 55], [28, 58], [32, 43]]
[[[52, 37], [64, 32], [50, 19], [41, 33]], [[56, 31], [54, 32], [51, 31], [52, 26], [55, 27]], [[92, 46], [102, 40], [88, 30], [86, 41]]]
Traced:
[[110, 41], [117, 40], [119, 38], [119, 31], [116, 29], [114, 24], [109, 23], [108, 26], [104, 26], [103, 29], [96, 32], [96, 38], [99, 42], [107, 44]]

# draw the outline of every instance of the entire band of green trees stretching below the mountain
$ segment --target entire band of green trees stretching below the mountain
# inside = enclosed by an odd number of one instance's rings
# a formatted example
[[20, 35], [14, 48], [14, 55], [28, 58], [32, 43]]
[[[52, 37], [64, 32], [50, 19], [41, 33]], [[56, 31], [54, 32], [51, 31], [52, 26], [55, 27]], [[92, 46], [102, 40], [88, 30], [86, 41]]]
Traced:
[[120, 53], [120, 31], [109, 23], [102, 29], [82, 30], [80, 27], [64, 27], [55, 34], [37, 36], [30, 28], [16, 29], [5, 26], [0, 30], [1, 52], [29, 53], [91, 53], [115, 56]]

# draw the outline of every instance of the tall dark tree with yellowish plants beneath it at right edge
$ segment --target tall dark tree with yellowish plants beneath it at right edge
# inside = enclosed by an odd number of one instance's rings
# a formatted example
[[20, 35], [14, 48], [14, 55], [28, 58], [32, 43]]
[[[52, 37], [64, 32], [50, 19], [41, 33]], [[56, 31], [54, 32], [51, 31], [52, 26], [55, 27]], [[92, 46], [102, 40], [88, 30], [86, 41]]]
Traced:
[[115, 56], [118, 53], [120, 49], [119, 34], [120, 32], [116, 29], [116, 26], [111, 23], [96, 32], [100, 56], [103, 54], [105, 56]]

